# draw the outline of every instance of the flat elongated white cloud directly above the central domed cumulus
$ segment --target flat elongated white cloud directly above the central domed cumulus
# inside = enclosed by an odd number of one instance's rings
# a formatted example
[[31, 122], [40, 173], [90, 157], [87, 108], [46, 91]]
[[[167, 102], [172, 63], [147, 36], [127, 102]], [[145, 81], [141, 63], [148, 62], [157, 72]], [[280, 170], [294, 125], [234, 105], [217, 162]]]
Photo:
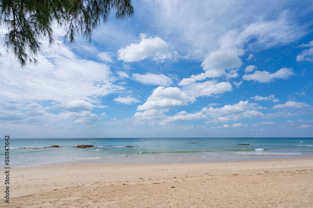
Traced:
[[144, 75], [141, 74], [133, 74], [134, 80], [146, 84], [146, 85], [161, 85], [161, 86], [169, 86], [173, 84], [171, 77], [168, 77], [163, 74], [152, 74], [147, 73]]

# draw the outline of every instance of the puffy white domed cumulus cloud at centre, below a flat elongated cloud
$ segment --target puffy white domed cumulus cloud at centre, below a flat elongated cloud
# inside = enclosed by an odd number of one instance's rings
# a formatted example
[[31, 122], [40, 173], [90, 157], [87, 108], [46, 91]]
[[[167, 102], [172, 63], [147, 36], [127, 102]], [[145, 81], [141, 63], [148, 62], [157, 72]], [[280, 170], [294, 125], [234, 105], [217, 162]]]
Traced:
[[146, 103], [137, 107], [137, 110], [159, 109], [168, 111], [170, 108], [187, 105], [188, 103], [193, 103], [195, 100], [194, 97], [188, 96], [177, 87], [165, 88], [159, 86], [153, 90]]

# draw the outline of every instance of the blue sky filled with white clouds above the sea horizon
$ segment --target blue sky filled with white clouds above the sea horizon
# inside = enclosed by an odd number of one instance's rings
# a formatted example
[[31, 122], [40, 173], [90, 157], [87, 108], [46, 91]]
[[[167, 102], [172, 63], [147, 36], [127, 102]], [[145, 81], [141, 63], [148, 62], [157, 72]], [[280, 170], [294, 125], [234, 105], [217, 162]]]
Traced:
[[2, 134], [312, 137], [313, 2], [133, 6], [130, 19], [112, 14], [91, 47], [64, 44], [56, 27], [60, 47], [46, 47], [38, 66], [22, 69], [0, 49]]

